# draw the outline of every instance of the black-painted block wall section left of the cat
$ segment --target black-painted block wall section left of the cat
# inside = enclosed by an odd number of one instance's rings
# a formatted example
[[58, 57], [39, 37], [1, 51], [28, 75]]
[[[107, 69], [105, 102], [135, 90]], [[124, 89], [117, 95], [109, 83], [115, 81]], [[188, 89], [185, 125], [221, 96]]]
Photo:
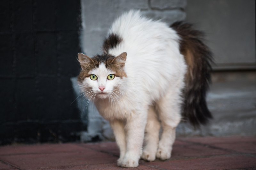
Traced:
[[79, 139], [79, 27], [79, 0], [0, 1], [0, 144]]

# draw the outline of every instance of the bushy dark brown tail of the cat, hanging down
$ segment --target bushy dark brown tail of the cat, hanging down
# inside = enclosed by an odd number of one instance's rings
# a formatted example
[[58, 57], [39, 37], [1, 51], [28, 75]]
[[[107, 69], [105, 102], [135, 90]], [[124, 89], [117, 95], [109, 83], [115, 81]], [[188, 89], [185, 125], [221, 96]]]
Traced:
[[180, 52], [188, 65], [182, 116], [198, 127], [212, 118], [205, 101], [211, 81], [212, 53], [202, 41], [203, 33], [193, 29], [191, 24], [175, 22], [170, 27], [180, 36]]

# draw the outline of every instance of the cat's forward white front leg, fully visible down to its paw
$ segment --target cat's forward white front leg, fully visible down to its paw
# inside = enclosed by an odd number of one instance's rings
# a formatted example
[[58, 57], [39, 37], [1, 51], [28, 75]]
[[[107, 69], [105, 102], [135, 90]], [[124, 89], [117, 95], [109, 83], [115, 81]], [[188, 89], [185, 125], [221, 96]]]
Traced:
[[121, 163], [122, 167], [134, 168], [139, 166], [146, 122], [146, 112], [132, 113], [126, 120], [126, 153]]

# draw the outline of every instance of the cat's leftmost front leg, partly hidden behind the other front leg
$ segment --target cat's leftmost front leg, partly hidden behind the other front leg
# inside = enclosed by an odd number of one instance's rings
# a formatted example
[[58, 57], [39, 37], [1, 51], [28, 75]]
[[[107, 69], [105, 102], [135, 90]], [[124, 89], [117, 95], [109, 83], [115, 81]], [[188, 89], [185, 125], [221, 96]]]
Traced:
[[124, 122], [119, 121], [119, 120], [113, 120], [110, 121], [110, 126], [113, 129], [115, 138], [116, 138], [116, 144], [119, 147], [120, 150], [120, 156], [119, 159], [117, 160], [117, 165], [121, 166], [123, 160], [124, 160], [124, 155], [126, 151], [126, 141], [125, 141], [125, 132], [124, 132]]

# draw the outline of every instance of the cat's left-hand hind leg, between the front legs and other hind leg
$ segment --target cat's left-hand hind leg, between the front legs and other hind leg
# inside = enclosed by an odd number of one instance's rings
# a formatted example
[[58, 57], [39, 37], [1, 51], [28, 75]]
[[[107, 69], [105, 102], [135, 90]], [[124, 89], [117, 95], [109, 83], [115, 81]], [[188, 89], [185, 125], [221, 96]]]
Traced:
[[156, 159], [157, 145], [159, 141], [160, 122], [158, 121], [155, 108], [153, 106], [148, 109], [148, 119], [145, 128], [143, 153], [141, 158], [146, 161], [154, 161]]

